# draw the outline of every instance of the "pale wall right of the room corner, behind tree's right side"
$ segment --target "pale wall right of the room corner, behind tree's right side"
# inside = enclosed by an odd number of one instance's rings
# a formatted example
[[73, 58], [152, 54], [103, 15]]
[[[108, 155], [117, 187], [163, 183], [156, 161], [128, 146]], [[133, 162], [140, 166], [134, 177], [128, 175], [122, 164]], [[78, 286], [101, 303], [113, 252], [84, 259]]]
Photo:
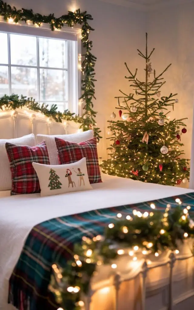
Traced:
[[162, 95], [178, 93], [179, 103], [175, 105], [172, 118], [188, 117], [187, 133], [181, 142], [186, 155], [190, 158], [192, 139], [192, 114], [194, 90], [194, 2], [163, 7], [150, 11], [147, 19], [150, 47], [156, 51], [152, 65], [160, 71], [168, 64], [171, 68], [165, 73], [166, 85]]

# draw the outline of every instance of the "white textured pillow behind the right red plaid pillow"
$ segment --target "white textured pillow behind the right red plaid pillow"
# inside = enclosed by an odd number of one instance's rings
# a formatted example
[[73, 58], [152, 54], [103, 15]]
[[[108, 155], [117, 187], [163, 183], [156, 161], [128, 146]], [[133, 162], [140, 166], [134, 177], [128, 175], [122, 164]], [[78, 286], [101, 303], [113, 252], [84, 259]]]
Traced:
[[47, 144], [48, 156], [51, 165], [59, 165], [55, 137], [74, 143], [81, 143], [94, 137], [93, 131], [83, 131], [71, 135], [36, 135], [38, 144], [45, 141]]

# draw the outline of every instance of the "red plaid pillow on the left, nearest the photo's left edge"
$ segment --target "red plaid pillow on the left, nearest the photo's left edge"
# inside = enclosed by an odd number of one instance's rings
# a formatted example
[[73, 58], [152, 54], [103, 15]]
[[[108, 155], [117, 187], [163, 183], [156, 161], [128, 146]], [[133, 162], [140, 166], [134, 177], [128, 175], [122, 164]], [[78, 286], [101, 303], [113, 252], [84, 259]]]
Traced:
[[32, 163], [50, 164], [46, 143], [36, 146], [6, 143], [5, 147], [12, 175], [11, 195], [40, 193], [38, 176]]

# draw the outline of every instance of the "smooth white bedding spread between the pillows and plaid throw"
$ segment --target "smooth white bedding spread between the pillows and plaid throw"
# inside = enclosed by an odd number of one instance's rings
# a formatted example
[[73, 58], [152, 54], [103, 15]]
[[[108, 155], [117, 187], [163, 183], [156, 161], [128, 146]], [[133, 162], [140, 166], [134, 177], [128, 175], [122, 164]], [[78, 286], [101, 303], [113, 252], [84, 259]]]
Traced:
[[8, 281], [25, 239], [35, 225], [59, 216], [193, 192], [110, 175], [102, 175], [102, 180], [103, 183], [92, 184], [91, 191], [0, 198], [0, 310], [15, 309], [7, 304]]

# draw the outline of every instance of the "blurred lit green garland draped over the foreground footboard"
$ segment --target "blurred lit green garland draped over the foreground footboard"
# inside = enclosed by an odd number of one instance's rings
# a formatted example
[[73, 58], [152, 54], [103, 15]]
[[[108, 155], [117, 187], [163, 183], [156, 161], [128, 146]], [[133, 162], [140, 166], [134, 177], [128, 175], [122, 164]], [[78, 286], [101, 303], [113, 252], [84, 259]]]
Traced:
[[[179, 198], [175, 201], [182, 203]], [[150, 206], [155, 208], [153, 203]], [[167, 204], [165, 213], [154, 211], [142, 214], [133, 210], [134, 216], [128, 215], [126, 218], [118, 213], [105, 229], [104, 236], [98, 235], [93, 239], [83, 237], [82, 244], [75, 245], [74, 256], [65, 270], [56, 264], [52, 265], [49, 289], [55, 294], [56, 301], [65, 310], [82, 309], [82, 299], [89, 292], [90, 280], [97, 266], [111, 263], [115, 269], [117, 265], [114, 259], [118, 255], [130, 255], [135, 261], [138, 252], [145, 260], [149, 254], [158, 257], [165, 250], [178, 254], [177, 241], [183, 242], [187, 237], [194, 237], [194, 222], [188, 214], [190, 209], [191, 206], [185, 209], [178, 206], [171, 210], [171, 205]], [[193, 249], [191, 251], [193, 253]]]

